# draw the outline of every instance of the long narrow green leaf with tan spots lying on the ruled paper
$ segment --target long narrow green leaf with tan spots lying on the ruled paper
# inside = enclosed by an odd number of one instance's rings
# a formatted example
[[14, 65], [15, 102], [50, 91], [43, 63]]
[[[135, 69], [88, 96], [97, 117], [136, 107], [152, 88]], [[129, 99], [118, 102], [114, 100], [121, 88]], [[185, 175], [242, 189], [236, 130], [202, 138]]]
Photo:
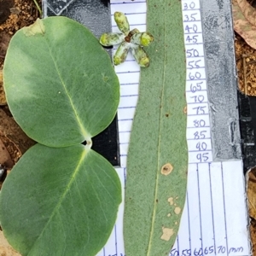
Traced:
[[181, 2], [147, 1], [150, 67], [141, 70], [125, 184], [125, 255], [166, 256], [186, 195], [186, 63]]

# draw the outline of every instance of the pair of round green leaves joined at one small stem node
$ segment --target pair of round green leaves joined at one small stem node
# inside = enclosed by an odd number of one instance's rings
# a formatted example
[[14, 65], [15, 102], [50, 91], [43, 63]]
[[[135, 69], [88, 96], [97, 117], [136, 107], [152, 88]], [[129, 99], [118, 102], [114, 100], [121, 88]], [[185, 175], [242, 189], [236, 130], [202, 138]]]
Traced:
[[22, 255], [95, 256], [121, 202], [116, 171], [90, 149], [119, 103], [108, 54], [76, 21], [37, 20], [12, 38], [3, 82], [15, 120], [38, 141], [3, 183], [4, 236]]

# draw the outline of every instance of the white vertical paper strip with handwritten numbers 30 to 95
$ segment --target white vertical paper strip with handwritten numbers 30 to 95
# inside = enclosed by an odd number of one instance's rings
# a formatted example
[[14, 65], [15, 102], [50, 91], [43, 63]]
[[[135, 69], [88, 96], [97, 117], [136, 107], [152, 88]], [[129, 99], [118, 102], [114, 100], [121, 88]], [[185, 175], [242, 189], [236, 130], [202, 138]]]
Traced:
[[212, 161], [205, 55], [199, 1], [184, 0], [183, 31], [187, 58], [187, 115], [189, 163]]

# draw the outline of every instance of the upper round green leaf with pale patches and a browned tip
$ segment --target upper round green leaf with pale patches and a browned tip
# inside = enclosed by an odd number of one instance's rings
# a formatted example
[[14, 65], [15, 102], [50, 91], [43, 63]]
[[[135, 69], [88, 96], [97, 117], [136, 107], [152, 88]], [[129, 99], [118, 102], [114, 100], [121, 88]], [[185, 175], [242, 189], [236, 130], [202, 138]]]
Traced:
[[9, 108], [23, 131], [51, 147], [90, 141], [119, 104], [108, 53], [84, 26], [49, 17], [12, 38], [3, 67]]

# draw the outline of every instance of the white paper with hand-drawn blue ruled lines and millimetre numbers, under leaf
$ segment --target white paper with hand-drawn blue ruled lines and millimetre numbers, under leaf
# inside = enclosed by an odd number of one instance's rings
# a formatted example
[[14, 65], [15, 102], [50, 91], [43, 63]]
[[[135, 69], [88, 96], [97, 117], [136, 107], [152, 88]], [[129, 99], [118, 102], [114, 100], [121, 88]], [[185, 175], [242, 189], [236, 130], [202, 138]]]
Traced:
[[[115, 11], [127, 15], [131, 29], [136, 27], [142, 32], [146, 31], [146, 1], [110, 2], [113, 32], [118, 32], [113, 20]], [[212, 162], [200, 0], [182, 0], [182, 6], [187, 58], [189, 174], [182, 221], [169, 256], [250, 255], [242, 161]], [[118, 110], [121, 166], [116, 170], [124, 187], [140, 69], [129, 54], [125, 63], [115, 67], [115, 71], [121, 90]], [[119, 208], [117, 223], [107, 245], [97, 256], [125, 256], [123, 213], [124, 203]]]

